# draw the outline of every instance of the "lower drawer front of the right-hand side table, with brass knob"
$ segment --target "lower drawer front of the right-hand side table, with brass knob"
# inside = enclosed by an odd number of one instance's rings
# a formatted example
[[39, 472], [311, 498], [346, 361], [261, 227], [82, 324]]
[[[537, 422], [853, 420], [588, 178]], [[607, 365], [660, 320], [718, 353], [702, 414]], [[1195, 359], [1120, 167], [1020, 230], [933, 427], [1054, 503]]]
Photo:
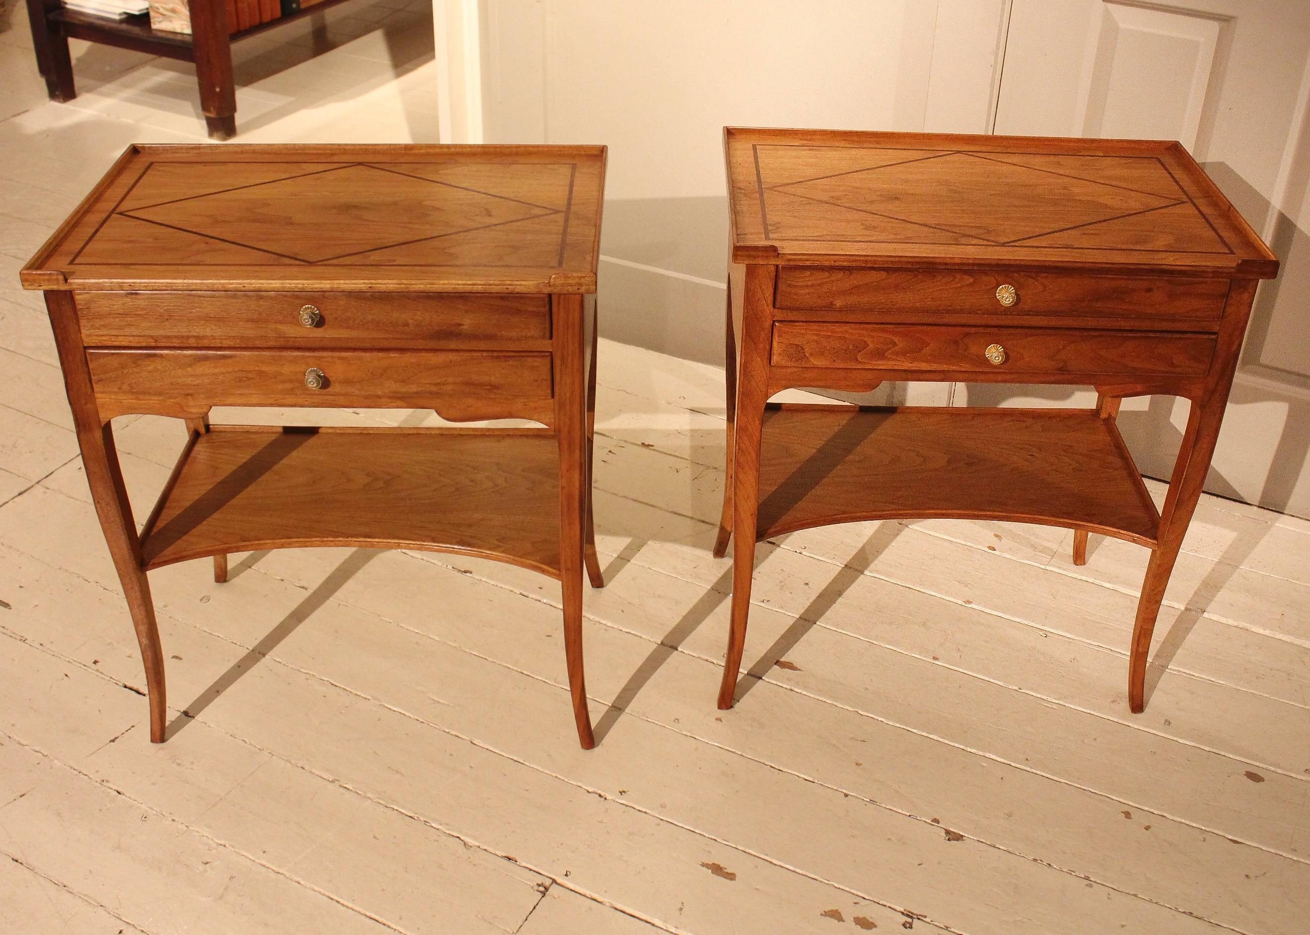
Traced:
[[1204, 376], [1213, 354], [1208, 334], [789, 321], [773, 331], [777, 367]]

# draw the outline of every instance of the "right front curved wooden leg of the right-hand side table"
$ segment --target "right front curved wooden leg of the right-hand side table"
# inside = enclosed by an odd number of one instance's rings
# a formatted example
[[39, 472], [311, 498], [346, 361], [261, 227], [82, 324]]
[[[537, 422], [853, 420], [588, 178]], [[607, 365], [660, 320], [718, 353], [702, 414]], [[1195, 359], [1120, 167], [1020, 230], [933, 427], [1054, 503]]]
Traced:
[[1220, 372], [1212, 373], [1204, 394], [1200, 399], [1191, 401], [1191, 411], [1187, 414], [1187, 430], [1183, 432], [1183, 444], [1179, 447], [1174, 474], [1169, 481], [1169, 494], [1165, 495], [1165, 507], [1159, 516], [1159, 534], [1150, 562], [1146, 564], [1146, 579], [1142, 581], [1137, 619], [1133, 623], [1128, 660], [1128, 707], [1133, 714], [1140, 714], [1146, 707], [1146, 661], [1151, 635], [1155, 631], [1155, 618], [1159, 615], [1159, 605], [1165, 600], [1165, 588], [1174, 571], [1178, 551], [1183, 546], [1183, 537], [1187, 536], [1187, 526], [1201, 499], [1210, 458], [1214, 457], [1214, 445], [1218, 441], [1224, 410], [1237, 371], [1237, 351], [1246, 334], [1256, 284], [1256, 280], [1233, 282], [1214, 352], [1214, 359], [1226, 364]]

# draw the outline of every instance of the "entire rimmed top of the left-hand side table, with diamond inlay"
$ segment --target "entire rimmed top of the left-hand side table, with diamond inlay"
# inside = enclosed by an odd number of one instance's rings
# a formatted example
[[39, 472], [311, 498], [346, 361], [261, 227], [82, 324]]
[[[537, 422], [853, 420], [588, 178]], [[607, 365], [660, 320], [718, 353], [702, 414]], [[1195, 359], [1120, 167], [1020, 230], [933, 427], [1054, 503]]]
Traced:
[[39, 289], [595, 292], [604, 147], [134, 145]]

